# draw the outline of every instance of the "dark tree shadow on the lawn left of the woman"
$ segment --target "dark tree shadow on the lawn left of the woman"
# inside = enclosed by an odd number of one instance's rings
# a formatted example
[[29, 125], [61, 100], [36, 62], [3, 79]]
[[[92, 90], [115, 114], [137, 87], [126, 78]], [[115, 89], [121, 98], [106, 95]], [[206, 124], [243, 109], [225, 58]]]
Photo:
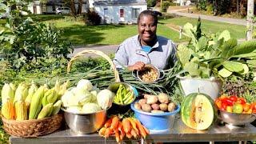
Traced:
[[101, 30], [118, 29], [124, 26], [120, 25], [100, 25], [100, 26], [82, 26], [73, 25], [62, 28], [64, 30], [64, 37], [68, 38], [74, 45], [90, 45], [97, 44], [104, 40], [104, 36]]

